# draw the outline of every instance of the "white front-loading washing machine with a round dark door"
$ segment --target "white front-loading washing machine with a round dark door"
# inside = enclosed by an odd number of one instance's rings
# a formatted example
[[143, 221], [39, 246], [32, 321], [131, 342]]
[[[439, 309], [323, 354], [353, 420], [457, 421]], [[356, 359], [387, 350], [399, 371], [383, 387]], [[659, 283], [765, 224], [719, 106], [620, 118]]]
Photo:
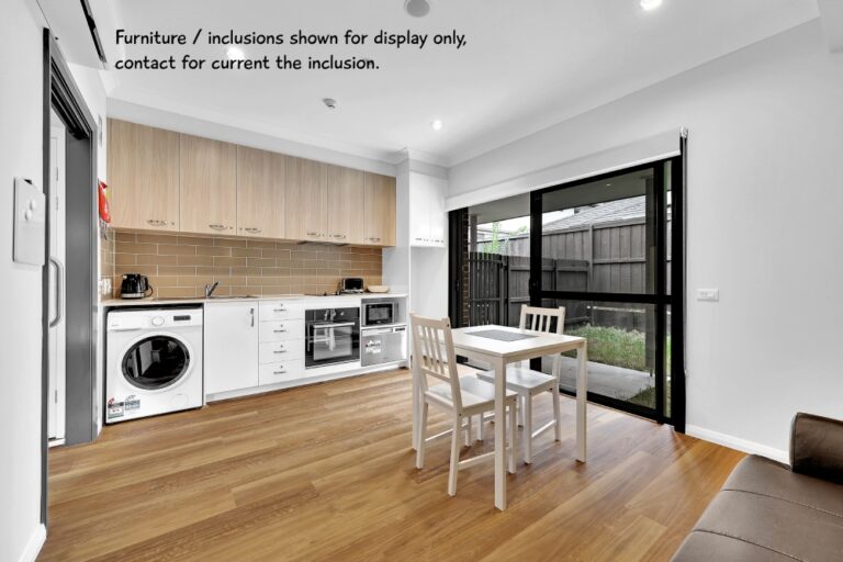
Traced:
[[116, 308], [106, 326], [106, 424], [204, 404], [201, 307]]

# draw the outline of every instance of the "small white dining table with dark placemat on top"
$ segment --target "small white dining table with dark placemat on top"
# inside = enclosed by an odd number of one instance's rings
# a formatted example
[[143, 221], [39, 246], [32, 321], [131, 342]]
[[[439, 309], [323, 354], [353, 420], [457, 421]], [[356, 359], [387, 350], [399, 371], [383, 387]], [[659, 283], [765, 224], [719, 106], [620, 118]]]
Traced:
[[[544, 356], [576, 351], [576, 460], [586, 461], [586, 395], [588, 342], [578, 336], [533, 331], [509, 326], [471, 326], [451, 330], [454, 353], [490, 364], [495, 372], [495, 419], [504, 416], [506, 366]], [[413, 389], [413, 447], [419, 439], [419, 401], [417, 384]], [[495, 507], [506, 509], [506, 424], [495, 424]], [[525, 437], [527, 438], [527, 437]], [[515, 443], [513, 443], [515, 446]]]

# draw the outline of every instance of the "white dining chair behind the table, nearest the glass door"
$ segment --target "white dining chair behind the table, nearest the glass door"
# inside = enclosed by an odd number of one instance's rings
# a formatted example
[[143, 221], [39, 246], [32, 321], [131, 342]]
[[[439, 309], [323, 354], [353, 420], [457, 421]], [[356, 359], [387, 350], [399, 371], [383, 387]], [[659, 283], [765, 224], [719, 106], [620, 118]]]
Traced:
[[[521, 318], [518, 324], [520, 329], [531, 331], [543, 331], [551, 334], [562, 334], [565, 326], [565, 307], [541, 308], [538, 306], [521, 306]], [[554, 428], [555, 439], [559, 441], [562, 437], [562, 417], [559, 403], [560, 371], [562, 368], [562, 356], [553, 357], [552, 374], [544, 374], [533, 371], [524, 366], [510, 366], [506, 369], [506, 387], [518, 394], [519, 413], [521, 424], [524, 425], [524, 462], [532, 462], [532, 440], [541, 434]], [[494, 371], [479, 372], [477, 378], [482, 381], [495, 381]], [[532, 398], [544, 392], [550, 392], [553, 400], [553, 422], [550, 422], [536, 431], [532, 430]], [[480, 415], [480, 428], [477, 436], [483, 439], [483, 424], [487, 418], [484, 414]]]

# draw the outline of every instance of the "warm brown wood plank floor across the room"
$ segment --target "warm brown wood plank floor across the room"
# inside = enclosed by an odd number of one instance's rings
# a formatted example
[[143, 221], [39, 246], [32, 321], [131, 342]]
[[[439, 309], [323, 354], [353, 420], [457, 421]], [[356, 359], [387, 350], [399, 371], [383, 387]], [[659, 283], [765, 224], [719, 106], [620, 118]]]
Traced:
[[408, 371], [110, 426], [49, 453], [38, 560], [670, 560], [742, 457], [589, 406], [580, 464], [573, 401], [563, 416], [562, 441], [546, 434], [509, 476], [505, 513], [491, 463], [446, 494], [447, 440], [414, 468]]

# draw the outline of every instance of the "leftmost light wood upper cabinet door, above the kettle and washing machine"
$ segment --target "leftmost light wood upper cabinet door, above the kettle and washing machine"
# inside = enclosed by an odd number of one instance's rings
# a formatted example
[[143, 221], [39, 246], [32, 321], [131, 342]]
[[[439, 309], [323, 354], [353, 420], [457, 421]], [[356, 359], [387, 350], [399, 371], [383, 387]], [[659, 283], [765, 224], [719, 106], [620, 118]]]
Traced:
[[112, 226], [179, 231], [179, 134], [109, 120]]

